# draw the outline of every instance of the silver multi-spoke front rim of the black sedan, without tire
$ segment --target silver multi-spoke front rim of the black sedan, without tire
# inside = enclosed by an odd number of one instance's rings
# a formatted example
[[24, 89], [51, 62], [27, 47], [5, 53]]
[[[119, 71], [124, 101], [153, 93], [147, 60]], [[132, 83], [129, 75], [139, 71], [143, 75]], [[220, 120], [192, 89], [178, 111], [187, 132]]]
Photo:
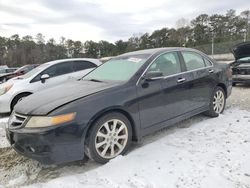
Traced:
[[112, 119], [105, 122], [97, 131], [95, 148], [97, 153], [111, 159], [119, 155], [128, 141], [128, 129], [124, 122]]

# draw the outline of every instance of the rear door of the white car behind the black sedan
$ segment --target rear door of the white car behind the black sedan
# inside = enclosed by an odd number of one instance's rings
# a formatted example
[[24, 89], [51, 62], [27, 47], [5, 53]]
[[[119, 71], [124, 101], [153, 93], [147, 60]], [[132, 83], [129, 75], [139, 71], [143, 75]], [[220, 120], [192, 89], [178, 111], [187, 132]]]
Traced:
[[96, 64], [89, 61], [73, 61], [72, 62], [74, 73], [72, 77], [79, 79], [97, 67]]

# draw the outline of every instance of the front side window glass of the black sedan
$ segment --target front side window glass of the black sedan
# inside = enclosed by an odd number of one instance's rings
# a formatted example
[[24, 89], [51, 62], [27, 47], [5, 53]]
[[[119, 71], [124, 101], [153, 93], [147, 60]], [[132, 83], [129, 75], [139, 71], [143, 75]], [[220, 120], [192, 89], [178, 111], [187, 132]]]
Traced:
[[177, 52], [166, 53], [158, 57], [149, 67], [149, 71], [160, 71], [163, 76], [180, 73], [181, 67]]

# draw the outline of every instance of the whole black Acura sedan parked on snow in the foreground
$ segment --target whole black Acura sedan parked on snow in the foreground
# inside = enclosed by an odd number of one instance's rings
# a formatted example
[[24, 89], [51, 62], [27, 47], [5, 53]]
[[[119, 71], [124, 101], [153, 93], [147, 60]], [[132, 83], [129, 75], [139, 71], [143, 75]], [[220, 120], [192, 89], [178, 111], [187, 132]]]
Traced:
[[78, 81], [30, 95], [12, 113], [13, 148], [42, 163], [105, 163], [131, 141], [199, 113], [223, 112], [232, 89], [226, 64], [188, 48], [115, 57]]

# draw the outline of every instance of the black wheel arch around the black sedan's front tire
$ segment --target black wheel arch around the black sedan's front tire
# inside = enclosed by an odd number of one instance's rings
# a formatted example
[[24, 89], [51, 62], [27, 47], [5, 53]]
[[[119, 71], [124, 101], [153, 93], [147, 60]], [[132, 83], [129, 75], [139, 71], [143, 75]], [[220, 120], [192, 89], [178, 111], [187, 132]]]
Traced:
[[129, 112], [127, 112], [126, 110], [124, 110], [120, 107], [107, 108], [107, 109], [104, 109], [104, 110], [98, 112], [96, 115], [94, 115], [91, 118], [91, 120], [88, 122], [86, 136], [88, 135], [89, 131], [91, 130], [91, 125], [93, 125], [99, 118], [101, 118], [105, 114], [112, 113], [112, 112], [121, 113], [126, 118], [128, 118], [128, 120], [131, 124], [131, 128], [132, 128], [132, 140], [137, 141], [139, 139], [139, 135], [138, 135], [138, 130], [136, 129], [135, 121], [132, 118], [132, 116], [129, 114]]

